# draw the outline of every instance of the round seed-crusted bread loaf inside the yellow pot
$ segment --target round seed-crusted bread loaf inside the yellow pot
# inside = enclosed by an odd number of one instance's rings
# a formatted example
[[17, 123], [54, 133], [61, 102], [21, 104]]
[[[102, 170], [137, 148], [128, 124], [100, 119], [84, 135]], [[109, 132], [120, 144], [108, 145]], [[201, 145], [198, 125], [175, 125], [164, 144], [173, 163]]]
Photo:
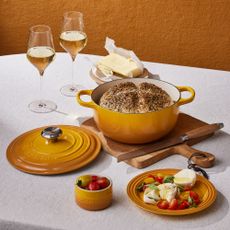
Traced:
[[163, 89], [154, 84], [143, 82], [120, 83], [106, 91], [100, 106], [122, 113], [146, 113], [157, 111], [172, 104], [172, 99]]

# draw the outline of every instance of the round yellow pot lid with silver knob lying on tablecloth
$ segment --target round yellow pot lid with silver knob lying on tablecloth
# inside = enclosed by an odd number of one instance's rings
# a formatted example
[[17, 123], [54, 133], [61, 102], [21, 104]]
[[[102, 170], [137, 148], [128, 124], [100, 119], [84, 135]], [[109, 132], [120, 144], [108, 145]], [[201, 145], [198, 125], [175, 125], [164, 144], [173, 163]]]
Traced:
[[17, 169], [41, 175], [79, 169], [100, 153], [101, 142], [91, 131], [77, 126], [41, 127], [14, 139], [7, 159]]

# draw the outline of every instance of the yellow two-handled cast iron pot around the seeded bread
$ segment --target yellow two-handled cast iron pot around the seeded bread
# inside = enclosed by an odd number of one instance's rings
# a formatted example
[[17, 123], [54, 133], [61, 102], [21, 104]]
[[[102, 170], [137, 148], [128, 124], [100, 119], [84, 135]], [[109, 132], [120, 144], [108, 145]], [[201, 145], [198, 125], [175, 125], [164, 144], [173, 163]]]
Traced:
[[[99, 105], [101, 96], [111, 87], [124, 82], [140, 84], [148, 82], [165, 90], [174, 103], [156, 112], [120, 113]], [[182, 98], [181, 92], [191, 95]], [[82, 95], [91, 96], [92, 101], [85, 102]], [[104, 135], [123, 143], [141, 144], [155, 141], [168, 134], [175, 126], [179, 114], [179, 106], [193, 101], [195, 91], [188, 86], [174, 86], [168, 82], [155, 79], [122, 79], [99, 85], [94, 90], [81, 90], [77, 94], [80, 105], [94, 109], [94, 120]]]

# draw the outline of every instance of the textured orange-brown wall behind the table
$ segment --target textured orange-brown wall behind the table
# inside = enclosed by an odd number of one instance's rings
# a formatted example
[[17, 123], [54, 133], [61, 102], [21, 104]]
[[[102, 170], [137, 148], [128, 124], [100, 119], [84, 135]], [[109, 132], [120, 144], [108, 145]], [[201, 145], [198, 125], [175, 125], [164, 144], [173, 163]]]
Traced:
[[144, 61], [230, 70], [229, 0], [1, 0], [0, 54], [26, 52], [28, 29], [48, 24], [55, 48], [62, 15], [84, 14], [84, 53], [105, 55], [105, 37]]

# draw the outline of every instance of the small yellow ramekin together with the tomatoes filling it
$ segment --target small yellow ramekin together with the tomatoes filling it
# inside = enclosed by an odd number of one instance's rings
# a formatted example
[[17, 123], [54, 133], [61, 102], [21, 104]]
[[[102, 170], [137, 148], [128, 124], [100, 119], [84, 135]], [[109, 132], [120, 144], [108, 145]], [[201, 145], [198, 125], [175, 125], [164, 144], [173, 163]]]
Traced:
[[96, 211], [112, 203], [112, 181], [95, 174], [79, 176], [75, 183], [75, 201], [83, 209]]

